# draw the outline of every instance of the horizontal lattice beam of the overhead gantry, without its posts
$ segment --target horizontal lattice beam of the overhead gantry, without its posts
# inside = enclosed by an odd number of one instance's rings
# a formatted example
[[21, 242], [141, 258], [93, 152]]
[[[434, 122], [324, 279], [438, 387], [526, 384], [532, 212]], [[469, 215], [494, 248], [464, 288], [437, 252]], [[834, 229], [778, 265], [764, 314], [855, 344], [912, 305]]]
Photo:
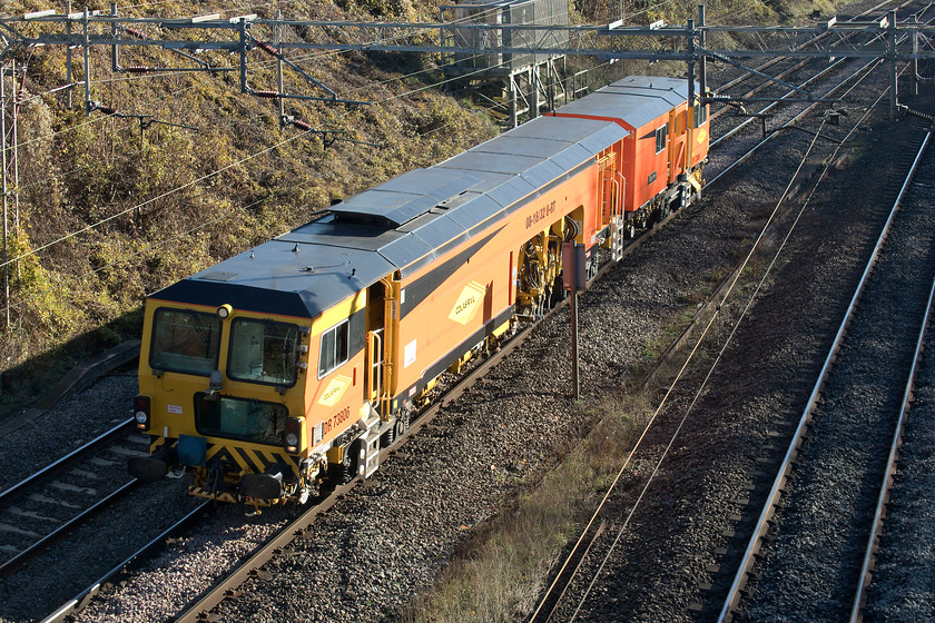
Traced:
[[[798, 57], [798, 58], [875, 58], [885, 50], [866, 49], [855, 43], [845, 42], [842, 37], [854, 32], [883, 37], [886, 33], [897, 34], [917, 33], [926, 41], [935, 36], [935, 27], [917, 23], [897, 23], [884, 18], [878, 21], [840, 22], [829, 20], [807, 27], [756, 27], [756, 26], [713, 26], [698, 23], [693, 28], [686, 26], [650, 24], [622, 26], [614, 22], [606, 26], [561, 26], [551, 24], [488, 24], [488, 23], [451, 23], [451, 22], [354, 22], [354, 21], [316, 21], [289, 19], [259, 19], [256, 16], [222, 19], [217, 14], [195, 18], [129, 18], [116, 14], [98, 14], [97, 11], [57, 14], [53, 11], [41, 11], [21, 17], [0, 17], [0, 58], [12, 50], [29, 46], [68, 44], [111, 46], [111, 47], [158, 47], [177, 52], [185, 52], [191, 58], [194, 55], [210, 50], [223, 50], [229, 53], [240, 53], [253, 50], [262, 41], [276, 39], [276, 32], [282, 29], [283, 39], [276, 47], [278, 50], [360, 50], [388, 52], [444, 52], [444, 53], [499, 53], [499, 55], [541, 55], [565, 56], [589, 55], [617, 59], [642, 60], [698, 60], [690, 59], [688, 51], [675, 51], [671, 46], [667, 49], [628, 50], [623, 47], [624, 39], [640, 37], [651, 40], [688, 39], [702, 33], [724, 32], [731, 36], [754, 34], [767, 38], [767, 47], [752, 46], [734, 49], [711, 49], [711, 53], [731, 59], [758, 57]], [[87, 38], [69, 32], [72, 24], [80, 24], [87, 30]], [[38, 26], [45, 32], [38, 32]], [[142, 34], [141, 29], [156, 30], [158, 34]], [[485, 44], [457, 44], [454, 30], [479, 31], [481, 34], [473, 40]], [[302, 36], [296, 32], [301, 31]], [[504, 38], [508, 32], [530, 33], [526, 37]], [[830, 32], [838, 36], [820, 44], [817, 49], [795, 49], [795, 41], [803, 37]], [[175, 33], [190, 34], [187, 38], [173, 37]], [[288, 34], [292, 33], [292, 38]], [[554, 37], [550, 37], [553, 33]], [[561, 36], [559, 36], [561, 33]], [[533, 41], [535, 44], [513, 44], [511, 47], [496, 44], [496, 41]], [[787, 44], [776, 41], [786, 39]], [[649, 39], [648, 39], [649, 41]], [[687, 46], [678, 46], [687, 50]], [[697, 52], [697, 55], [707, 52]], [[913, 51], [911, 39], [898, 47], [895, 52], [898, 61], [913, 59], [932, 59], [935, 52]], [[197, 65], [197, 63], [196, 63]], [[169, 68], [166, 68], [169, 69]], [[218, 67], [177, 68], [179, 70], [220, 70]]]

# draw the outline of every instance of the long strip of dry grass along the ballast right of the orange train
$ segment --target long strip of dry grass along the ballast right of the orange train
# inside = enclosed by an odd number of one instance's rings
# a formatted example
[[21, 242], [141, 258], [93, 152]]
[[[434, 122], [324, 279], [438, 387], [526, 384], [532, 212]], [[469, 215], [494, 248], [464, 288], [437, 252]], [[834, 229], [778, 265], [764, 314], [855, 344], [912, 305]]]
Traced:
[[[749, 241], [738, 249], [737, 259], [749, 250]], [[739, 310], [762, 277], [772, 245], [755, 254], [731, 296], [730, 306]], [[686, 298], [681, 313], [672, 314], [660, 337], [647, 345], [653, 354], [644, 370], [650, 375], [642, 393], [606, 396], [593, 411], [575, 416], [593, 423], [591, 432], [547, 473], [540, 482], [521, 493], [511, 507], [494, 521], [478, 526], [461, 544], [453, 562], [436, 584], [400, 615], [404, 623], [463, 623], [524, 621], [538, 605], [550, 581], [550, 570], [562, 561], [567, 546], [591, 518], [598, 501], [620, 471], [627, 455], [643, 431], [652, 407], [649, 400], [665, 390], [681, 369], [690, 346], [700, 337], [718, 306], [705, 305], [730, 269], [717, 271], [708, 284]], [[710, 289], [709, 289], [710, 288]], [[702, 291], [707, 290], [707, 291]], [[719, 300], [722, 290], [713, 294]], [[736, 303], [734, 303], [736, 301]], [[730, 310], [725, 308], [730, 315]], [[681, 347], [660, 353], [687, 327]], [[720, 344], [729, 327], [716, 322], [707, 337]], [[699, 350], [695, 364], [705, 366], [710, 354]], [[639, 377], [642, 378], [642, 375]], [[581, 408], [579, 406], [579, 408]]]

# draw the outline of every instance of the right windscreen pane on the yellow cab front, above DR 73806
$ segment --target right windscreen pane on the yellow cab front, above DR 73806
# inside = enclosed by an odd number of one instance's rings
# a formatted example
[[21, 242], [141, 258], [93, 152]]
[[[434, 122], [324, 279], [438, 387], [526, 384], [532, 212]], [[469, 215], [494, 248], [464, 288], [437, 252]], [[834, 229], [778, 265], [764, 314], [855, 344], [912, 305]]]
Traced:
[[234, 380], [295, 385], [298, 326], [237, 318], [230, 326], [227, 376]]

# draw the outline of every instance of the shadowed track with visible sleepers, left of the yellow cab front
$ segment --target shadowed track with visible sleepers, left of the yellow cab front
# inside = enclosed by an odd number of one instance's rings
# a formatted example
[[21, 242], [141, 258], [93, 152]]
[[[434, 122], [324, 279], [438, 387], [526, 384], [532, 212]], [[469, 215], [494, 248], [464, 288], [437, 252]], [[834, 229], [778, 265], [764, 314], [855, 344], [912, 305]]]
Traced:
[[149, 441], [127, 419], [0, 492], [0, 577], [8, 577], [137, 487], [126, 474], [130, 456]]

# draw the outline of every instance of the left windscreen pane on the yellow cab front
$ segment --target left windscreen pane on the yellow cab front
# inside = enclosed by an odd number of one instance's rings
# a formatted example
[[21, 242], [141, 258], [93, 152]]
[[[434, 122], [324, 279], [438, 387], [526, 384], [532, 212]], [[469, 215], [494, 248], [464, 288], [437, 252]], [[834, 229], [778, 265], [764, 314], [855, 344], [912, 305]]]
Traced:
[[193, 309], [157, 309], [152, 319], [152, 369], [209, 376], [217, 369], [220, 319]]

